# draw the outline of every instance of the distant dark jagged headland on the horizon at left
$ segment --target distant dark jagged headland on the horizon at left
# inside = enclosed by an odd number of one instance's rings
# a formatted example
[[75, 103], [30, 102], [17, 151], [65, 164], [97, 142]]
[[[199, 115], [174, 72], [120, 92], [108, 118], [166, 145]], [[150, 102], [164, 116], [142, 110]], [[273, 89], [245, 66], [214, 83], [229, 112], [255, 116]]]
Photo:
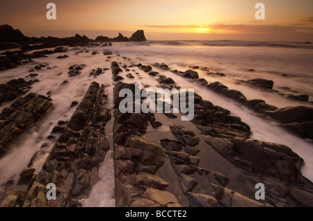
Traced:
[[[98, 36], [96, 39], [89, 39], [86, 35], [76, 34], [74, 37], [26, 37], [20, 30], [14, 30], [11, 26], [0, 26], [0, 50], [8, 50], [10, 48], [20, 48], [18, 51], [6, 51], [0, 54], [0, 70], [12, 69], [20, 64], [33, 62], [32, 58], [42, 58], [51, 53], [67, 52], [62, 46], [95, 46], [100, 45], [99, 42], [106, 42], [102, 46], [110, 46], [111, 42], [145, 42], [145, 34], [143, 30], [137, 30], [131, 37], [124, 37], [119, 33], [118, 37]], [[98, 43], [97, 43], [98, 42]], [[109, 44], [108, 44], [109, 43]], [[55, 48], [51, 50], [35, 51], [44, 48]], [[60, 55], [61, 56], [61, 55]], [[62, 55], [60, 58], [67, 58]], [[65, 56], [65, 57], [64, 57]]]

